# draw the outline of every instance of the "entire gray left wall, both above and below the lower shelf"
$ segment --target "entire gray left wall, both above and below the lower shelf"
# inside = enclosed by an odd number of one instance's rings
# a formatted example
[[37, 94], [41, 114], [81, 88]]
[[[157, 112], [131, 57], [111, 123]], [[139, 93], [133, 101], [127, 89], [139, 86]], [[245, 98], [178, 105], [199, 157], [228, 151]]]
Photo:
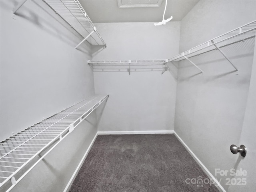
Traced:
[[[1, 6], [1, 140], [94, 94], [86, 60], [89, 44], [44, 2], [17, 1]], [[61, 192], [66, 187], [96, 129], [94, 112], [60, 142], [12, 191]]]

